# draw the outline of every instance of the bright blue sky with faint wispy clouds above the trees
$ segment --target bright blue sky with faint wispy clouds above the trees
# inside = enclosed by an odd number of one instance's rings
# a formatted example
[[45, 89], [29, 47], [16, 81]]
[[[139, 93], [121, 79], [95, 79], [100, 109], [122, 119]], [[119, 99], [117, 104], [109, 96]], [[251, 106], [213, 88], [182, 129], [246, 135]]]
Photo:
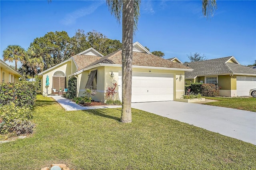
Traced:
[[[202, 16], [200, 0], [142, 0], [134, 42], [164, 58], [188, 61], [199, 52], [208, 59], [234, 56], [243, 65], [256, 59], [256, 1], [218, 0], [214, 17]], [[0, 51], [8, 45], [27, 49], [47, 32], [96, 30], [110, 39], [122, 40], [122, 27], [110, 15], [105, 1], [0, 1]], [[10, 63], [14, 65], [14, 63]]]

